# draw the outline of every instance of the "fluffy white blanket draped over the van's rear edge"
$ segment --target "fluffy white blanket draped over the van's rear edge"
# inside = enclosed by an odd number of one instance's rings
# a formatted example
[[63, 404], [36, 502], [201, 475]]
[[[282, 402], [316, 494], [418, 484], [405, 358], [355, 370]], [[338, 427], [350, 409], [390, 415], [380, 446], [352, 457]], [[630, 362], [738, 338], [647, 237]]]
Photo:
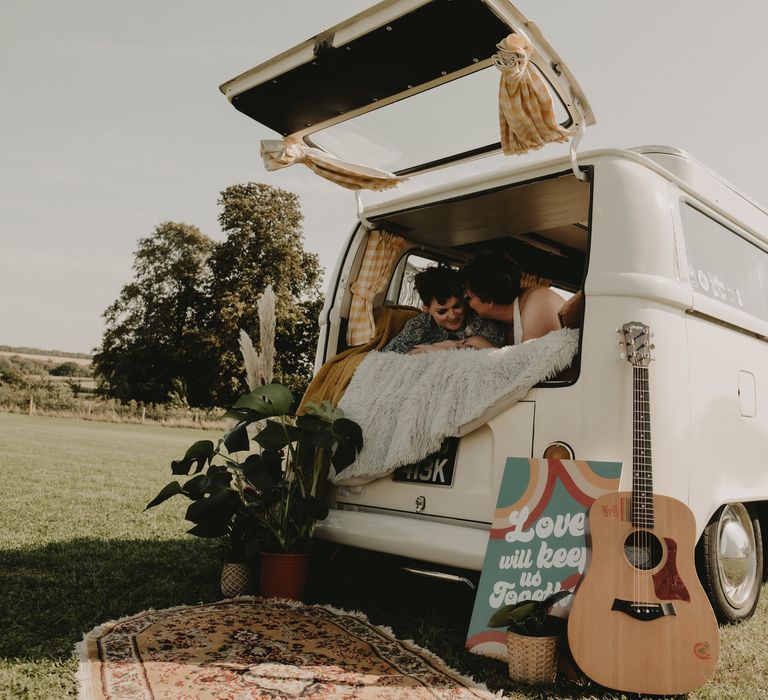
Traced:
[[568, 367], [578, 344], [579, 332], [564, 328], [498, 350], [369, 353], [339, 402], [362, 428], [363, 449], [331, 481], [364, 484], [424, 459], [461, 426]]

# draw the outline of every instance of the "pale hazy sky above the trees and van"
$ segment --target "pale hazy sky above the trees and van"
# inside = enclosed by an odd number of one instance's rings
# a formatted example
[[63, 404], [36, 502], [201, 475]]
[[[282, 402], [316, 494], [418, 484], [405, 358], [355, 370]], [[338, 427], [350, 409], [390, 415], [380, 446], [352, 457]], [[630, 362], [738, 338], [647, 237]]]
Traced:
[[[373, 4], [4, 0], [0, 344], [93, 350], [137, 240], [168, 220], [220, 240], [216, 200], [235, 183], [296, 192], [306, 248], [330, 273], [354, 222], [352, 193], [301, 165], [267, 173], [259, 141], [277, 135], [218, 86]], [[581, 151], [682, 148], [768, 205], [766, 3], [516, 5], [590, 100], [597, 125]], [[440, 28], [425, 41], [439, 51]], [[457, 116], [471, 126], [471, 106]], [[537, 157], [567, 153], [550, 148]]]

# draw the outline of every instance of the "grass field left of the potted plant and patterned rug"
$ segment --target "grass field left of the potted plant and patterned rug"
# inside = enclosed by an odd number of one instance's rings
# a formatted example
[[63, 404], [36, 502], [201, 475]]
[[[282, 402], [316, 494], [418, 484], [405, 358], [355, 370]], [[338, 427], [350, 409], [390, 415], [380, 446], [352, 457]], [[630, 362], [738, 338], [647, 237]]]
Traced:
[[84, 632], [220, 597], [184, 504], [142, 512], [200, 435], [0, 413], [0, 697], [73, 695]]

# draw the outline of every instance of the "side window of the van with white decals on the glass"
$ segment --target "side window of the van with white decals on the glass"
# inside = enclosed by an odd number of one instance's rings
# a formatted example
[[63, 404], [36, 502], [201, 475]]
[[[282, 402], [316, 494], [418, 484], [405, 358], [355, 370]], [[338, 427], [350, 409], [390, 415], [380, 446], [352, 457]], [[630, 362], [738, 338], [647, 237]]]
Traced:
[[682, 221], [693, 290], [768, 320], [768, 252], [690, 205]]

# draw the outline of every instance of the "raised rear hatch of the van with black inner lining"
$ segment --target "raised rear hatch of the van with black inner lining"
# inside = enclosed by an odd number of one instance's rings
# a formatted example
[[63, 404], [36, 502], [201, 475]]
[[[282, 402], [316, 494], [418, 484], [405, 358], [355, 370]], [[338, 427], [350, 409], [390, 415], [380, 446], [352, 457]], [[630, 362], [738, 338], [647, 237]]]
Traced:
[[513, 32], [561, 126], [593, 124], [568, 67], [506, 0], [385, 0], [220, 89], [288, 141], [410, 174], [500, 150], [493, 55]]

